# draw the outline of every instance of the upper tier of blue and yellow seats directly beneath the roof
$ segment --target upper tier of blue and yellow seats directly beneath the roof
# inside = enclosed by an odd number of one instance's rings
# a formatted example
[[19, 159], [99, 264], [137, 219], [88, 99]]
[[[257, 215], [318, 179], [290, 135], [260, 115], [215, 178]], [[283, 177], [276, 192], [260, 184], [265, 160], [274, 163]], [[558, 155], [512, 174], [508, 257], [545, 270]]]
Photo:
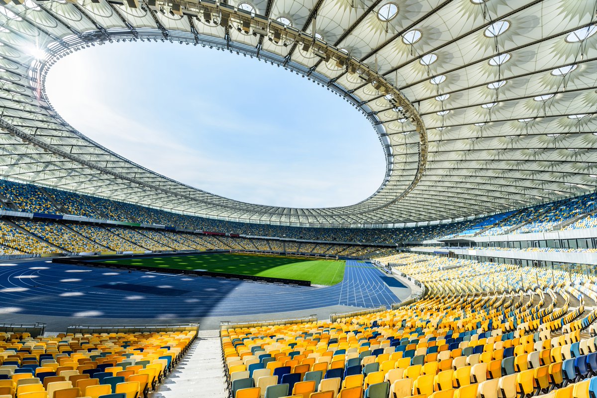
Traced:
[[[56, 206], [54, 206], [54, 203], [56, 203]], [[70, 213], [95, 219], [177, 226], [192, 231], [235, 233], [259, 237], [287, 237], [302, 240], [393, 244], [396, 242], [438, 240], [459, 235], [500, 235], [509, 232], [511, 229], [513, 229], [512, 233], [516, 234], [550, 231], [562, 222], [596, 210], [597, 194], [593, 192], [580, 197], [539, 204], [515, 212], [494, 214], [493, 216], [477, 219], [393, 229], [303, 228], [227, 222], [166, 212], [152, 207], [80, 195], [60, 191], [59, 189], [38, 188], [34, 185], [2, 179], [0, 179], [0, 206], [7, 210], [11, 210], [9, 207], [14, 206], [16, 209], [12, 210], [30, 213]], [[584, 220], [584, 222], [579, 220], [577, 223], [573, 223], [573, 225], [568, 226], [568, 229], [590, 228], [597, 224], [594, 217], [587, 217]]]

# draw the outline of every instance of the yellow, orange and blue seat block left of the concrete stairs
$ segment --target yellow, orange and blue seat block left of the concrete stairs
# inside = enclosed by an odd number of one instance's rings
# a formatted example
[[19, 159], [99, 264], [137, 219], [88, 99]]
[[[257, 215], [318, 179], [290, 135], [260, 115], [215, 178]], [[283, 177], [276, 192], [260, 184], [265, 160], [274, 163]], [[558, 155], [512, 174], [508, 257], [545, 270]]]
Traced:
[[195, 332], [0, 334], [1, 398], [147, 398]]

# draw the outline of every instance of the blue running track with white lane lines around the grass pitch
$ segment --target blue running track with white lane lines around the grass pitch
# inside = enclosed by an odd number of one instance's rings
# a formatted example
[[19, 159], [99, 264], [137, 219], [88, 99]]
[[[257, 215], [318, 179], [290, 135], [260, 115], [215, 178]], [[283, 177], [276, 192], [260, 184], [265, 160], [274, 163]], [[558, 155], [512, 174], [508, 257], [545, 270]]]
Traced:
[[296, 287], [37, 262], [0, 263], [0, 315], [197, 318], [315, 309], [376, 307], [398, 297], [370, 263], [349, 260], [344, 280]]

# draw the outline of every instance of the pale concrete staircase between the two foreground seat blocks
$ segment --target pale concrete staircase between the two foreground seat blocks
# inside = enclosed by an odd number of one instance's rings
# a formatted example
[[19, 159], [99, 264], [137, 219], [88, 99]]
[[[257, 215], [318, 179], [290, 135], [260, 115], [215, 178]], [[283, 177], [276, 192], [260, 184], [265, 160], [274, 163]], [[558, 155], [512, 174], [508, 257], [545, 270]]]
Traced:
[[[211, 334], [211, 337], [201, 335]], [[217, 331], [199, 337], [164, 383], [150, 398], [227, 398], [226, 377]]]

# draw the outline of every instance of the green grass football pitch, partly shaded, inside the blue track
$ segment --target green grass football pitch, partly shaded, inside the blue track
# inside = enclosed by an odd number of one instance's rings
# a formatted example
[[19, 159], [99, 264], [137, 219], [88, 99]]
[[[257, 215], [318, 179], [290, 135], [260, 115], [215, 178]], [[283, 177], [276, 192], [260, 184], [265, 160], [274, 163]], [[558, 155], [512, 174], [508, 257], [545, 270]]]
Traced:
[[123, 258], [103, 260], [101, 263], [300, 279], [301, 281], [310, 281], [315, 285], [337, 284], [344, 276], [344, 266], [346, 265], [344, 261], [231, 253]]

